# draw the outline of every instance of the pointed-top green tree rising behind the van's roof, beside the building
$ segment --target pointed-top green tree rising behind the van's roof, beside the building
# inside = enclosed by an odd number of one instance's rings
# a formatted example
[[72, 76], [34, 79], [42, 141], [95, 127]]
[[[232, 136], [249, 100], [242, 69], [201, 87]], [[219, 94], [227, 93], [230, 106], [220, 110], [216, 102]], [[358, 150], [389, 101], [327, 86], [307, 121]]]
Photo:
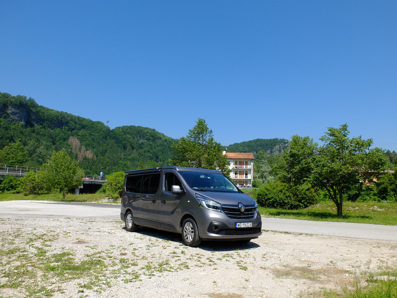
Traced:
[[212, 130], [204, 119], [198, 118], [187, 136], [174, 143], [172, 149], [173, 159], [169, 160], [172, 165], [219, 169], [225, 175], [231, 171], [221, 144], [214, 141]]

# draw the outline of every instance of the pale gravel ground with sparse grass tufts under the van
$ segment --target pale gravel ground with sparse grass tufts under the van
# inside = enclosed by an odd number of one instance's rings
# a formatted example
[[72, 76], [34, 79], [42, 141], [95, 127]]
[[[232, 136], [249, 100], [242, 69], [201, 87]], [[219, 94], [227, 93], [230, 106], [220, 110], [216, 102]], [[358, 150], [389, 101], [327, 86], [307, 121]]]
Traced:
[[203, 242], [119, 220], [0, 217], [0, 297], [318, 297], [397, 267], [397, 242], [263, 231]]

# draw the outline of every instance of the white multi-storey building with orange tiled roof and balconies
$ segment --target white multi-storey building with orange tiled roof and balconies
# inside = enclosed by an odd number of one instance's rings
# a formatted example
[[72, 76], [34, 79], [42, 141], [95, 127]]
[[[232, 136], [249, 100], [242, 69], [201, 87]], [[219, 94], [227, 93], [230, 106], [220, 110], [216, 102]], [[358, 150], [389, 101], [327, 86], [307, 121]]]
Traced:
[[252, 187], [253, 181], [253, 154], [225, 152], [232, 170], [230, 178], [238, 187]]

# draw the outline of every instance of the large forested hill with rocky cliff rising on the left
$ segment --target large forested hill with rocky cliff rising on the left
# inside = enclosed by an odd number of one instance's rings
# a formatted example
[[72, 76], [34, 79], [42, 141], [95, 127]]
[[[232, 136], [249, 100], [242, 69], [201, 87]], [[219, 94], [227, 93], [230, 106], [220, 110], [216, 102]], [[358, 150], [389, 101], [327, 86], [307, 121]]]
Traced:
[[80, 160], [86, 174], [163, 166], [175, 141], [145, 127], [111, 130], [102, 122], [40, 106], [32, 98], [0, 92], [0, 149], [22, 143], [28, 151], [24, 166], [41, 166], [62, 148]]

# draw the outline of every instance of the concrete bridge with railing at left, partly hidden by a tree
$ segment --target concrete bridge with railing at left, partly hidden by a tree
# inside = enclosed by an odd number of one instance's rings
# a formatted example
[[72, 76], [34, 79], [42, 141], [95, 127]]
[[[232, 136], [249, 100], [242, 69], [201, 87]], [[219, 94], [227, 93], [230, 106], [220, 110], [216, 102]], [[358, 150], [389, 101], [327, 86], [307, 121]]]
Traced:
[[[16, 176], [20, 178], [25, 176], [26, 173], [30, 171], [37, 173], [39, 170], [39, 167], [0, 164], [0, 179], [4, 179], [7, 176]], [[84, 175], [82, 179], [82, 185], [80, 186], [80, 188], [75, 189], [75, 194], [95, 193], [102, 187], [105, 182], [106, 177]]]

